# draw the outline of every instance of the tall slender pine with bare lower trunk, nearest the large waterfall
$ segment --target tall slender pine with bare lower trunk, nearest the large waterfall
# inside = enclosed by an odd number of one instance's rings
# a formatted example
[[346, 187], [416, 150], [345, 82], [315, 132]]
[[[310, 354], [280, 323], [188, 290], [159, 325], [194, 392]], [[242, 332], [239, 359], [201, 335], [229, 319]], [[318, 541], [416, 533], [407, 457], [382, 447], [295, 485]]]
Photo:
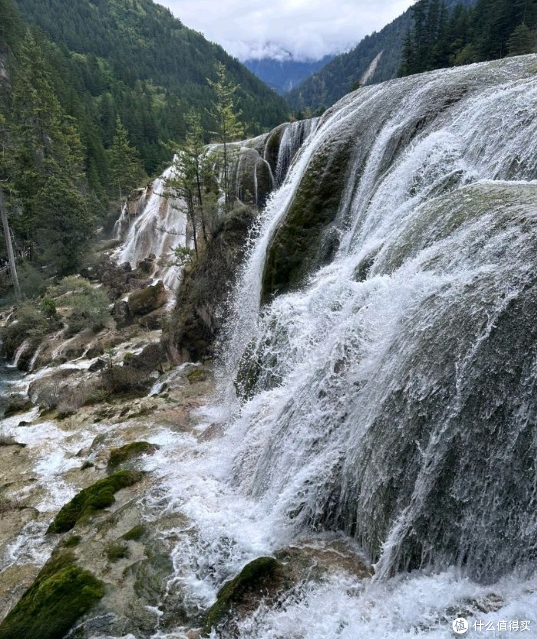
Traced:
[[216, 130], [214, 130], [213, 134], [216, 135], [217, 141], [222, 145], [223, 192], [225, 210], [229, 211], [231, 208], [229, 143], [244, 135], [244, 125], [240, 120], [243, 112], [237, 111], [236, 106], [235, 93], [239, 85], [227, 80], [225, 66], [221, 62], [216, 63], [216, 77], [216, 82], [210, 79], [207, 80], [214, 91], [214, 100], [209, 114], [216, 124]]

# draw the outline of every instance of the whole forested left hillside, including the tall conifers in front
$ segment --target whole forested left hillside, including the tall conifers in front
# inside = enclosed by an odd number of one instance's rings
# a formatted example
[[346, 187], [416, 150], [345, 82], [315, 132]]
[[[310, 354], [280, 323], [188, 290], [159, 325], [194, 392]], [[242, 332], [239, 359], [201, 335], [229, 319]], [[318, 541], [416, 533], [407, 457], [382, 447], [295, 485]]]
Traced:
[[0, 209], [36, 282], [79, 268], [121, 197], [170, 162], [191, 109], [205, 141], [218, 131], [219, 64], [249, 134], [285, 119], [277, 93], [150, 0], [0, 0], [0, 16]]

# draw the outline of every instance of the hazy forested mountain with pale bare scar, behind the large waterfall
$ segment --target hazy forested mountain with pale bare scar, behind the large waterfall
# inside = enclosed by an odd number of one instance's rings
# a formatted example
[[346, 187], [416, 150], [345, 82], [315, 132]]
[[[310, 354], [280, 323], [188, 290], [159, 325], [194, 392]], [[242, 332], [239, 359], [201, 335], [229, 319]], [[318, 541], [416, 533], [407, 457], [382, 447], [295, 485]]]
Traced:
[[[470, 6], [474, 0], [462, 0]], [[447, 0], [447, 6], [456, 4], [456, 0]], [[376, 67], [372, 67], [369, 84], [384, 82], [396, 77], [401, 66], [401, 52], [405, 36], [412, 27], [412, 12], [409, 9], [381, 31], [365, 36], [357, 47], [336, 56], [319, 72], [314, 73], [300, 86], [287, 95], [294, 109], [310, 107], [316, 111], [319, 107], [328, 107], [342, 98], [351, 89], [364, 82], [364, 75], [373, 61], [380, 55]]]

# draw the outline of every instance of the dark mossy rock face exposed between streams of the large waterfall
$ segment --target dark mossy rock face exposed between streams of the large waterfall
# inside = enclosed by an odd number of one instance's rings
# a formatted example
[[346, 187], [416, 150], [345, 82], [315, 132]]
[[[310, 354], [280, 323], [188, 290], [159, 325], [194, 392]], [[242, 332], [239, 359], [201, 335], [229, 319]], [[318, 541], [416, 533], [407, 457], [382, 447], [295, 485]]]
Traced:
[[354, 138], [325, 142], [309, 167], [268, 248], [262, 281], [262, 303], [275, 293], [296, 289], [314, 268], [330, 261], [337, 234], [334, 222], [346, 183]]

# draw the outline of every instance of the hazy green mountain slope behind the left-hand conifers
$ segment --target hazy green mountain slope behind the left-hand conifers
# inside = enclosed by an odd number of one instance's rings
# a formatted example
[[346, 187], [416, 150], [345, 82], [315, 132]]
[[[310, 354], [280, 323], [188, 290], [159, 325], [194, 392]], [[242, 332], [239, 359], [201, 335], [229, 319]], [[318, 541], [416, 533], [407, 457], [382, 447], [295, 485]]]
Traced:
[[111, 144], [116, 117], [127, 128], [152, 174], [169, 156], [159, 141], [184, 135], [190, 107], [205, 112], [211, 100], [207, 77], [225, 64], [241, 86], [243, 118], [252, 133], [285, 119], [286, 105], [219, 46], [188, 29], [152, 0], [18, 0], [22, 17], [40, 27], [63, 54], [77, 95], [91, 103]]

